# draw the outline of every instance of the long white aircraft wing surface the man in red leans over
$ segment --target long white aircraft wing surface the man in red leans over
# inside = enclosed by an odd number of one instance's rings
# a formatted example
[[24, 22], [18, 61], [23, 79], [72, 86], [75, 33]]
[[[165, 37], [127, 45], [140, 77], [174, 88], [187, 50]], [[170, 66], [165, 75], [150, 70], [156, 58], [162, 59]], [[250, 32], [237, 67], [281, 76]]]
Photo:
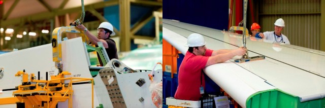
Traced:
[[[212, 50], [242, 46], [239, 34], [163, 20], [163, 38], [183, 54], [187, 47], [181, 45], [193, 32], [202, 34], [207, 42], [206, 47]], [[325, 93], [325, 56], [322, 51], [270, 44], [253, 38], [247, 39], [246, 47], [249, 56], [264, 55], [266, 59], [234, 63], [234, 59], [240, 58], [236, 56], [225, 63], [206, 67], [206, 74], [241, 106], [245, 106], [245, 98], [250, 94], [274, 88], [301, 98]]]

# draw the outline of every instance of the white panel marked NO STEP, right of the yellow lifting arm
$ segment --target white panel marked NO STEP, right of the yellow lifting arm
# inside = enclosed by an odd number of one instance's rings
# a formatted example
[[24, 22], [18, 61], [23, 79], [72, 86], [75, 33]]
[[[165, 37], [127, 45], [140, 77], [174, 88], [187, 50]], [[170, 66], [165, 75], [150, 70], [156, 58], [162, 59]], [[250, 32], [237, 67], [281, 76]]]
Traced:
[[[62, 41], [63, 71], [69, 71], [71, 77], [92, 78], [88, 68], [87, 58], [82, 39], [76, 38]], [[69, 77], [69, 76], [67, 76]], [[87, 81], [85, 81], [87, 82]], [[66, 81], [68, 83], [68, 81]], [[91, 84], [73, 85], [73, 106], [91, 107]], [[99, 106], [96, 90], [94, 91], [94, 107]], [[59, 107], [68, 106], [68, 102], [59, 102]]]

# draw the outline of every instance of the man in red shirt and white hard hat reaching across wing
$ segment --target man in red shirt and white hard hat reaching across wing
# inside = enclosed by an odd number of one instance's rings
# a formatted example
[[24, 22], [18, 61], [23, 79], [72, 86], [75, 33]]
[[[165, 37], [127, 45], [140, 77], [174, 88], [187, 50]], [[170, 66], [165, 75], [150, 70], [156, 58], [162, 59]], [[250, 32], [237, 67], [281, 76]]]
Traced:
[[188, 51], [179, 67], [178, 87], [174, 96], [176, 99], [199, 100], [205, 88], [203, 69], [246, 53], [244, 48], [213, 51], [207, 49], [205, 45], [206, 42], [201, 34], [192, 33], [187, 38]]

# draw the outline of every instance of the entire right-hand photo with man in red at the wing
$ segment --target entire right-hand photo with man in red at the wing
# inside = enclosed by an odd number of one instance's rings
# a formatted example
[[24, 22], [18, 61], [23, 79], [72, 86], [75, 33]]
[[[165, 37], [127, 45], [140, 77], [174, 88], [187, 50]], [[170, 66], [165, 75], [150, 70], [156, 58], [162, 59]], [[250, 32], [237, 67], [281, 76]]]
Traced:
[[325, 106], [324, 3], [163, 5], [163, 107]]

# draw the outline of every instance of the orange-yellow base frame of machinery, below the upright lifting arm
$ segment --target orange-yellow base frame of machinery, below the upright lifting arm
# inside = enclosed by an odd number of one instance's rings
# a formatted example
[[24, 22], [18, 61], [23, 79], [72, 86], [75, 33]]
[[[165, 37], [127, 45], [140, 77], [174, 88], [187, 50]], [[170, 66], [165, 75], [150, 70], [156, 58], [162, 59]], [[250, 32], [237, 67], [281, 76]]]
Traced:
[[[55, 107], [58, 102], [64, 102], [68, 99], [69, 107], [72, 107], [72, 83], [81, 81], [91, 81], [91, 94], [93, 106], [93, 79], [92, 78], [64, 78], [71, 75], [67, 71], [57, 76], [51, 76], [51, 80], [36, 80], [34, 74], [27, 74], [24, 71], [18, 71], [15, 76], [21, 77], [21, 85], [13, 95], [19, 100], [17, 107]], [[64, 81], [69, 81], [65, 84]], [[6, 99], [4, 99], [6, 101]]]

